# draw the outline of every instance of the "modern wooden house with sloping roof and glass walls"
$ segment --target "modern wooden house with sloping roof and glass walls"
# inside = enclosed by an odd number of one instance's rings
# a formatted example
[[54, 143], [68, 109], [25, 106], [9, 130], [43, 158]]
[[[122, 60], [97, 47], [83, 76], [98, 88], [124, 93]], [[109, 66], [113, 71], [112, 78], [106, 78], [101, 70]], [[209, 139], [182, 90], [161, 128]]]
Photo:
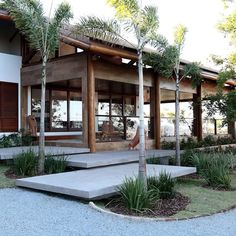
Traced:
[[[4, 11], [0, 11], [0, 32], [1, 135], [27, 128], [28, 115], [39, 121], [41, 63], [38, 52], [29, 48]], [[46, 140], [76, 139], [78, 146], [89, 147], [91, 152], [127, 149], [138, 125], [135, 49], [69, 37], [65, 32], [47, 66]], [[205, 82], [201, 86], [194, 89], [189, 80], [181, 82], [182, 136], [235, 137], [235, 124], [223, 129], [220, 119], [205, 119], [199, 103], [206, 94], [216, 92], [217, 75], [217, 71], [202, 67]], [[227, 82], [225, 92], [235, 86], [235, 82]], [[160, 148], [162, 138], [174, 136], [174, 99], [174, 81], [158, 77], [151, 68], [144, 69], [148, 148]]]

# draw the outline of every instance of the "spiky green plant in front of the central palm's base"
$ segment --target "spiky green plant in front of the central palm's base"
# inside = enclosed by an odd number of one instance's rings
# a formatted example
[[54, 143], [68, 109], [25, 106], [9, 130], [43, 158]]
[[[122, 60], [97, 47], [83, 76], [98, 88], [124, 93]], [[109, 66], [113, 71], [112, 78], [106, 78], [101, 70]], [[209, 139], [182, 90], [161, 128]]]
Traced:
[[145, 190], [138, 178], [126, 178], [118, 187], [121, 199], [130, 211], [142, 212], [150, 208], [154, 202], [153, 191]]

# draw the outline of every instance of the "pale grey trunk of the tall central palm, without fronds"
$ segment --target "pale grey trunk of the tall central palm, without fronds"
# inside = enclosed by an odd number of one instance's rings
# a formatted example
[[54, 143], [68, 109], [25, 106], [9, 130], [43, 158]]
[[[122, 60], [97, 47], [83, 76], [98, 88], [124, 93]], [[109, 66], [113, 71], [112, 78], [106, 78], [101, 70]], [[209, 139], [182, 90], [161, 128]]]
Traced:
[[146, 160], [145, 160], [142, 50], [138, 50], [138, 76], [139, 76], [139, 179], [144, 183], [144, 186], [146, 188], [147, 173], [146, 173]]

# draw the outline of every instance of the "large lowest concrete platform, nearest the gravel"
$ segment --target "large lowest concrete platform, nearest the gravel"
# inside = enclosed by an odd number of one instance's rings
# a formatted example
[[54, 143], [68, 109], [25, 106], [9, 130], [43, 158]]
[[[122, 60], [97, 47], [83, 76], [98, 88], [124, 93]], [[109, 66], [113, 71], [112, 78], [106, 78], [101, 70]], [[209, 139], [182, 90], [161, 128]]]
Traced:
[[[170, 173], [172, 177], [179, 177], [195, 173], [196, 168], [147, 165], [148, 176], [158, 176], [161, 171]], [[137, 175], [138, 164], [132, 163], [17, 179], [16, 185], [91, 200], [114, 195], [126, 177]]]

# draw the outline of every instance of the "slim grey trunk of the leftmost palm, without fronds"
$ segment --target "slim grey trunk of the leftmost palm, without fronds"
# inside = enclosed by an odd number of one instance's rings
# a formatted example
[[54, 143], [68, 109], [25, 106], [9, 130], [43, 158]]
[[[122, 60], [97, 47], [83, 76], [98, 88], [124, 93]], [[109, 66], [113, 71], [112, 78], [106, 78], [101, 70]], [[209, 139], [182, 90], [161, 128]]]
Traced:
[[45, 123], [45, 92], [46, 92], [46, 77], [47, 77], [46, 64], [47, 64], [47, 57], [43, 56], [42, 79], [41, 79], [41, 113], [40, 113], [38, 174], [44, 173], [44, 162], [45, 162], [44, 123]]

